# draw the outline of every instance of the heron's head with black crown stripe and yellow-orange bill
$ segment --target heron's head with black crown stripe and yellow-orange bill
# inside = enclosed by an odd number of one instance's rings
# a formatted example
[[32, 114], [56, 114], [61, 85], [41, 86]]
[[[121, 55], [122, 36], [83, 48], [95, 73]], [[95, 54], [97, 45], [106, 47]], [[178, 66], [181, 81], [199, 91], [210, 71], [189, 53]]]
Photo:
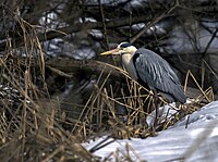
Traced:
[[121, 42], [118, 45], [116, 49], [106, 51], [100, 53], [100, 55], [107, 55], [107, 54], [133, 54], [135, 53], [137, 49], [132, 46], [130, 42]]

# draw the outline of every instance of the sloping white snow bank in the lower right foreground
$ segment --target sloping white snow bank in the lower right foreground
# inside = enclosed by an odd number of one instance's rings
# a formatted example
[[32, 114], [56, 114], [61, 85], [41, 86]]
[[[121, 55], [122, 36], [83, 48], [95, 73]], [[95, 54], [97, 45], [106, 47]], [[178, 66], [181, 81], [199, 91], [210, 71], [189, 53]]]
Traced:
[[[95, 154], [104, 159], [112, 152], [112, 159], [118, 152], [126, 154], [129, 152], [133, 161], [148, 162], [180, 161], [183, 158], [189, 162], [218, 161], [218, 101], [191, 114], [187, 128], [185, 128], [187, 120], [184, 117], [171, 128], [159, 132], [156, 137], [116, 140], [97, 150]], [[83, 144], [83, 146], [92, 149], [105, 138], [107, 137]], [[131, 148], [135, 153], [131, 151]]]

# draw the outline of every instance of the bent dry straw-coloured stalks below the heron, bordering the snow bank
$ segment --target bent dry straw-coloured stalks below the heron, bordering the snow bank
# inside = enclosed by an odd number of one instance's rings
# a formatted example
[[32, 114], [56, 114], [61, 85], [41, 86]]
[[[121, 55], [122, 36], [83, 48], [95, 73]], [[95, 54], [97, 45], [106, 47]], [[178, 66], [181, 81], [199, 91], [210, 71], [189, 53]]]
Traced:
[[[106, 64], [106, 66], [111, 65]], [[114, 70], [120, 71], [126, 76], [129, 96], [122, 92], [124, 89], [121, 89], [121, 95], [117, 97], [111, 86], [105, 88], [110, 74], [108, 74], [106, 78], [101, 78], [100, 75], [99, 80], [104, 79], [104, 82], [100, 85], [99, 82], [96, 83], [95, 90], [84, 107], [81, 119], [73, 128], [73, 133], [80, 134], [85, 138], [95, 135], [96, 130], [98, 133], [107, 132], [112, 137], [119, 139], [130, 137], [146, 138], [147, 136], [155, 136], [157, 130], [168, 128], [180, 119], [197, 111], [199, 108], [214, 100], [211, 87], [204, 91], [192, 73], [187, 72], [184, 89], [187, 89], [186, 85], [189, 79], [194, 79], [202, 95], [180, 107], [169, 105], [161, 97], [159, 97], [160, 107], [167, 109], [165, 110], [167, 114], [165, 115], [165, 119], [158, 116], [159, 123], [157, 127], [154, 128], [153, 125], [146, 123], [147, 117], [150, 117], [150, 115], [154, 114], [150, 114], [150, 112], [155, 110], [153, 104], [153, 92], [132, 80], [123, 70], [118, 67], [114, 67]], [[120, 115], [118, 113], [119, 109], [126, 110], [126, 113]], [[168, 114], [170, 110], [174, 110], [173, 114]], [[155, 114], [152, 117], [155, 119]], [[99, 136], [99, 134], [97, 135]]]

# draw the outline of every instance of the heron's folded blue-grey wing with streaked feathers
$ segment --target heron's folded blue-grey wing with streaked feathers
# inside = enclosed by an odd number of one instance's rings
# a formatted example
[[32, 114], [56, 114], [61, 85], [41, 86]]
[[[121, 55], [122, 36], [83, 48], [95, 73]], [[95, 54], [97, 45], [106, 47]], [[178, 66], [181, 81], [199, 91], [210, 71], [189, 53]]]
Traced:
[[148, 86], [166, 94], [184, 103], [184, 96], [180, 80], [170, 67], [169, 63], [155, 52], [147, 49], [138, 49], [133, 58], [138, 76]]

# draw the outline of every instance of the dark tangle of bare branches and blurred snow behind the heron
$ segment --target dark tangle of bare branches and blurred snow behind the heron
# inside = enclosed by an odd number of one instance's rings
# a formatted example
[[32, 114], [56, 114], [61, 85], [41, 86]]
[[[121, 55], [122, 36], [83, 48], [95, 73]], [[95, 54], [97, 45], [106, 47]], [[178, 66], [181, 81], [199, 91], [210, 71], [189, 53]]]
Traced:
[[40, 26], [37, 32], [46, 57], [98, 60], [99, 52], [130, 41], [165, 58], [182, 82], [191, 70], [203, 87], [218, 90], [215, 0], [9, 0], [1, 4], [1, 52], [9, 38], [12, 48], [23, 46], [17, 25], [22, 17]]

